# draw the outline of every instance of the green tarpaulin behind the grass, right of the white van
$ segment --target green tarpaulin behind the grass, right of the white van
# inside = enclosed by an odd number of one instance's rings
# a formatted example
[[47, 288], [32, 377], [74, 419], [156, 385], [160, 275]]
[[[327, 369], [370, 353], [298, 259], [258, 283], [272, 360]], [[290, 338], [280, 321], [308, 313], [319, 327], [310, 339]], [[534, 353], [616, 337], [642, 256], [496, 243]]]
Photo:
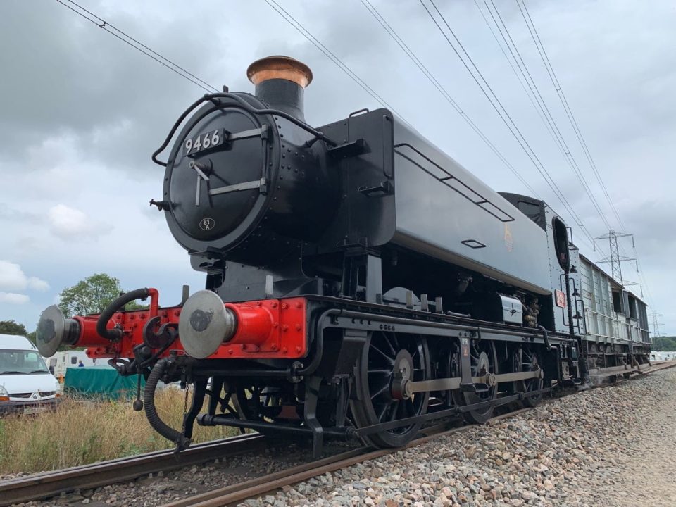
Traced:
[[[144, 384], [142, 378], [142, 388]], [[113, 368], [66, 368], [63, 390], [71, 394], [118, 399], [136, 396], [136, 385], [136, 375], [122, 377]]]

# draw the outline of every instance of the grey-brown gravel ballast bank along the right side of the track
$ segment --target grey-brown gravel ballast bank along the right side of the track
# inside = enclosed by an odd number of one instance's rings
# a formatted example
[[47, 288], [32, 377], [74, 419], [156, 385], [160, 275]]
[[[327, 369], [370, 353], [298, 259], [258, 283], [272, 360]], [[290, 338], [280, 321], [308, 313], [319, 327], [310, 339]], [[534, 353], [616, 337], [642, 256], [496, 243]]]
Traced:
[[[666, 492], [674, 495], [673, 502], [663, 500], [664, 482], [656, 482], [661, 493], [655, 499], [649, 494], [641, 499], [636, 489], [646, 488], [632, 486], [648, 463], [665, 464], [665, 449], [656, 449], [653, 456], [646, 453], [654, 427], [663, 435], [659, 445], [676, 449], [675, 387], [676, 369], [664, 370], [548, 400], [513, 418], [327, 473], [287, 492], [240, 505], [676, 505], [676, 485]], [[676, 456], [675, 451], [669, 453]], [[642, 484], [649, 480], [647, 474], [639, 477]]]

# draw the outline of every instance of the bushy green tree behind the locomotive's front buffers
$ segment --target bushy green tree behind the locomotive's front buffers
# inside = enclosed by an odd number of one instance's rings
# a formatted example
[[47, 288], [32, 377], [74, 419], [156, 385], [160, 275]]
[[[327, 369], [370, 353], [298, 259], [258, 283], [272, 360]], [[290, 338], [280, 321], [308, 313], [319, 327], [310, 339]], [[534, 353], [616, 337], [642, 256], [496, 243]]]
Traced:
[[122, 292], [120, 280], [97, 273], [63, 289], [58, 307], [68, 317], [101, 313]]

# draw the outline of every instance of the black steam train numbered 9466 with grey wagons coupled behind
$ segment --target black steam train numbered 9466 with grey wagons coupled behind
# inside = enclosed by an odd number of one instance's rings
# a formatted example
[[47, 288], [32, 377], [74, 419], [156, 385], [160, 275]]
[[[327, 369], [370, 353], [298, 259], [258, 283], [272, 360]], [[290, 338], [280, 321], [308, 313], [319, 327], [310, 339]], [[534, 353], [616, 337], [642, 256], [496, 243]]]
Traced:
[[[546, 203], [493, 192], [387, 109], [311, 127], [299, 61], [263, 58], [247, 74], [255, 94], [202, 96], [152, 156], [165, 175], [151, 205], [205, 289], [184, 287], [171, 307], [137, 289], [100, 315], [50, 306], [44, 356], [85, 346], [145, 377], [134, 409], [179, 449], [197, 422], [306, 438], [315, 455], [325, 437], [403, 446], [428, 421], [482, 423], [590, 369], [649, 362], [645, 305], [609, 277], [606, 292], [644, 320], [620, 308], [608, 332], [588, 329], [603, 309], [585, 308], [580, 270], [602, 272]], [[622, 318], [633, 335], [611, 325]], [[180, 429], [155, 407], [160, 380], [193, 386]]]

